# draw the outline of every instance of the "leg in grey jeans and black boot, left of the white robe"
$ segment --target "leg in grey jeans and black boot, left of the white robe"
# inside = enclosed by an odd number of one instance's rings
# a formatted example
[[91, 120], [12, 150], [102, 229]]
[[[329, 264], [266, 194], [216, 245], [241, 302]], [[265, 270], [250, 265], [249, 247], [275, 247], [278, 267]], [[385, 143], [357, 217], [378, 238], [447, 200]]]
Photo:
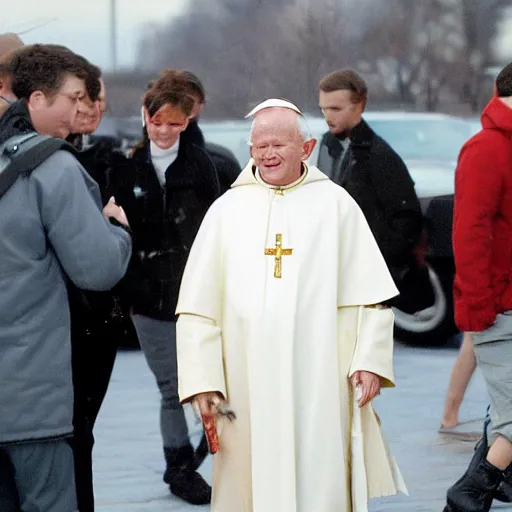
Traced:
[[164, 481], [173, 494], [189, 503], [210, 503], [211, 488], [196, 471], [198, 459], [178, 397], [176, 324], [140, 315], [133, 317], [133, 323], [162, 396], [160, 426], [167, 463]]

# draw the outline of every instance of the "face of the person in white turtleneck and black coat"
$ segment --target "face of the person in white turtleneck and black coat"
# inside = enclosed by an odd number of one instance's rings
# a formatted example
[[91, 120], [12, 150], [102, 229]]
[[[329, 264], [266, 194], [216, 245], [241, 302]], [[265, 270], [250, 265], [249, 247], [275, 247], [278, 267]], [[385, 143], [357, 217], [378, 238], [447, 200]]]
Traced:
[[164, 105], [152, 117], [144, 109], [148, 137], [160, 149], [169, 149], [176, 144], [180, 134], [187, 128], [189, 118], [180, 107], [174, 105]]

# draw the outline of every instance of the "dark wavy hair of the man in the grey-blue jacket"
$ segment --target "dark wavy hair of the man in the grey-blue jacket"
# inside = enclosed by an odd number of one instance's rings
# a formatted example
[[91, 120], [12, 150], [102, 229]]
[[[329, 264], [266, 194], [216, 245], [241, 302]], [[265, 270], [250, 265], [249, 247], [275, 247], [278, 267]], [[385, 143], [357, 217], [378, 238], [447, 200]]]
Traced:
[[[87, 82], [91, 77], [92, 64], [64, 46], [34, 44], [12, 52], [4, 69], [12, 77], [14, 95], [19, 99], [29, 99], [35, 91], [54, 96], [68, 74]], [[99, 79], [97, 82], [96, 97], [101, 86]], [[93, 84], [91, 92], [94, 96]]]

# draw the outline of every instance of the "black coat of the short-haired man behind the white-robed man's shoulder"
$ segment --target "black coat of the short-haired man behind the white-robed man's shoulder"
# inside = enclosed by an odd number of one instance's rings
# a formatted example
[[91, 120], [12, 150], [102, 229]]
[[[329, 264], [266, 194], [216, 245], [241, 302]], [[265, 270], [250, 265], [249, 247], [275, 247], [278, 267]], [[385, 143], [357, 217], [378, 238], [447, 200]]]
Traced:
[[326, 133], [318, 166], [357, 202], [398, 283], [423, 228], [414, 182], [398, 154], [364, 120], [352, 130], [349, 154], [340, 162], [341, 151], [340, 140]]

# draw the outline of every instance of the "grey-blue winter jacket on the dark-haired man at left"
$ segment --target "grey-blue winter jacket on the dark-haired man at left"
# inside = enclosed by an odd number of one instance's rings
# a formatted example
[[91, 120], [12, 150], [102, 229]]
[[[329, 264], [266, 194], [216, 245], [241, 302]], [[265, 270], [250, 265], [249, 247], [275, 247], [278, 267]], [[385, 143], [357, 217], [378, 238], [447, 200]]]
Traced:
[[72, 432], [66, 276], [108, 290], [131, 237], [102, 215], [98, 186], [58, 151], [0, 199], [0, 445]]

